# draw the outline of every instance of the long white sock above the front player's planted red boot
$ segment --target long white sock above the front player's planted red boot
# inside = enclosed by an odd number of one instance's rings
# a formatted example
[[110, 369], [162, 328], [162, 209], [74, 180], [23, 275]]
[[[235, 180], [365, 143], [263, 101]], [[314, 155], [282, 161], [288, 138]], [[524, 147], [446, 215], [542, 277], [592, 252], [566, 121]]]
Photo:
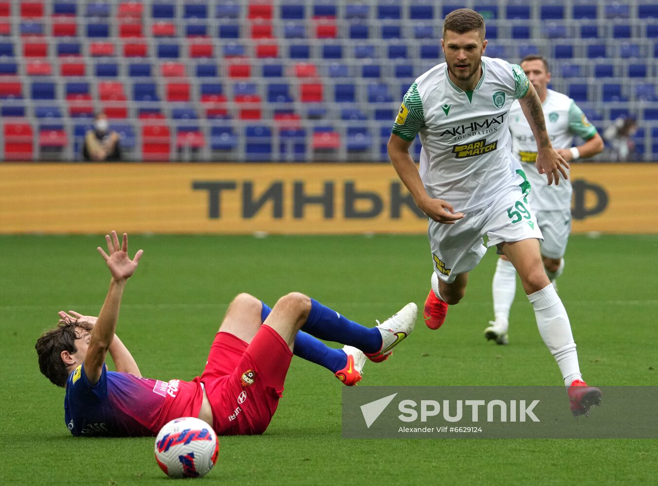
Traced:
[[582, 379], [569, 316], [553, 285], [528, 295], [528, 300], [535, 311], [539, 333], [557, 361], [565, 385], [569, 386], [574, 379]]

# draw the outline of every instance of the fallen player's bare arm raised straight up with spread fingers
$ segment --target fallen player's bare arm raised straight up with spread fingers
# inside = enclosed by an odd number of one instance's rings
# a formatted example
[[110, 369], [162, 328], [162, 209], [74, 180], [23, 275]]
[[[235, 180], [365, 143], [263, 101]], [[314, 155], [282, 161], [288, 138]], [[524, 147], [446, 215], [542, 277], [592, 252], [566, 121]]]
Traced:
[[126, 233], [123, 235], [122, 245], [119, 245], [116, 231], [112, 231], [111, 236], [105, 235], [105, 240], [107, 241], [108, 253], [105, 253], [101, 247], [98, 247], [98, 251], [107, 262], [112, 280], [110, 281], [107, 297], [105, 297], [105, 303], [103, 303], [98, 320], [93, 326], [93, 331], [91, 331], [91, 341], [89, 341], [89, 348], [84, 359], [85, 374], [91, 385], [95, 385], [101, 377], [105, 355], [114, 339], [114, 329], [116, 329], [116, 321], [118, 320], [126, 281], [135, 272], [139, 258], [143, 253], [142, 250], [139, 250], [135, 254], [135, 258], [130, 259], [128, 256], [128, 235]]

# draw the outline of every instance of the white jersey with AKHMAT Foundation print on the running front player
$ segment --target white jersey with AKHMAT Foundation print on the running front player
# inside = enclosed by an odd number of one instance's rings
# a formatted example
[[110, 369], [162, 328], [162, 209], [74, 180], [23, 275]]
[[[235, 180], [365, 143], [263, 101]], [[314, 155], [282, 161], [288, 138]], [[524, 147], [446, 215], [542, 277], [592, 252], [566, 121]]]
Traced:
[[420, 135], [420, 178], [429, 195], [471, 212], [515, 185], [529, 189], [509, 134], [509, 109], [528, 87], [517, 64], [489, 57], [482, 57], [482, 78], [473, 91], [451, 82], [445, 62], [417, 78], [393, 134], [407, 141]]

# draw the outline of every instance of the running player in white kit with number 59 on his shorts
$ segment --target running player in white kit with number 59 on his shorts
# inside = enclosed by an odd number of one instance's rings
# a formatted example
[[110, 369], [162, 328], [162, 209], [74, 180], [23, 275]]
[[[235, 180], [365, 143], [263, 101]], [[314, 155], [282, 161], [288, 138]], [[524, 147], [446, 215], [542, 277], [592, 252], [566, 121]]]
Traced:
[[[459, 9], [448, 14], [441, 40], [445, 63], [422, 74], [400, 107], [388, 155], [416, 205], [430, 218], [434, 273], [425, 321], [439, 328], [448, 304], [464, 296], [468, 272], [488, 246], [517, 269], [544, 343], [559, 365], [574, 415], [601, 400], [578, 366], [567, 311], [544, 272], [542, 233], [527, 203], [530, 185], [511, 154], [509, 109], [519, 99], [537, 140], [536, 166], [548, 183], [567, 177], [569, 164], [551, 146], [542, 103], [519, 66], [483, 57], [484, 19]], [[420, 135], [420, 174], [409, 147]]]

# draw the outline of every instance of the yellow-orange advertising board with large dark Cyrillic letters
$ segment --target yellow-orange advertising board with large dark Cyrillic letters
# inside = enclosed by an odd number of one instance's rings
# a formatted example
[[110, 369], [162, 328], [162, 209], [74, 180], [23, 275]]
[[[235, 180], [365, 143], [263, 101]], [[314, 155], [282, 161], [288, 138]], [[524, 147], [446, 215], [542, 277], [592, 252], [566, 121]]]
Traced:
[[[658, 233], [658, 164], [573, 164], [574, 232]], [[0, 233], [423, 233], [390, 164], [0, 164]]]

